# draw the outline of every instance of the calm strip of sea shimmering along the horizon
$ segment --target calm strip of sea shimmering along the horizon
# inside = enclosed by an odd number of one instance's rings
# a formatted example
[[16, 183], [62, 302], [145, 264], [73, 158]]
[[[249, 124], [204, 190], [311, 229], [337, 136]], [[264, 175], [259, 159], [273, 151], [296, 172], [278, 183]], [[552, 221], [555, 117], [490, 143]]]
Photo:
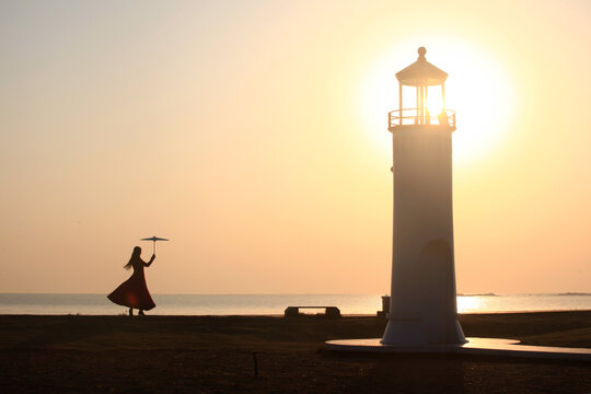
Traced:
[[[374, 314], [380, 296], [358, 294], [153, 294], [160, 315], [282, 314], [289, 305], [336, 305], [343, 314]], [[591, 294], [459, 296], [460, 313], [591, 310]], [[104, 294], [0, 293], [0, 314], [123, 314]]]

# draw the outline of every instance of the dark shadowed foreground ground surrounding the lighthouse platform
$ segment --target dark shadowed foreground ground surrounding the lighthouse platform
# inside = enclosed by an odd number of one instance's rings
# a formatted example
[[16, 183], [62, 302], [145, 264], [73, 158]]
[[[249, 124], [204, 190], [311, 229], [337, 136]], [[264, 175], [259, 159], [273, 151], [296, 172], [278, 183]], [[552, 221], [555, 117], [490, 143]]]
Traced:
[[[591, 311], [460, 320], [466, 336], [591, 348]], [[379, 337], [384, 325], [367, 316], [0, 315], [0, 393], [591, 393], [590, 363], [324, 347]]]

